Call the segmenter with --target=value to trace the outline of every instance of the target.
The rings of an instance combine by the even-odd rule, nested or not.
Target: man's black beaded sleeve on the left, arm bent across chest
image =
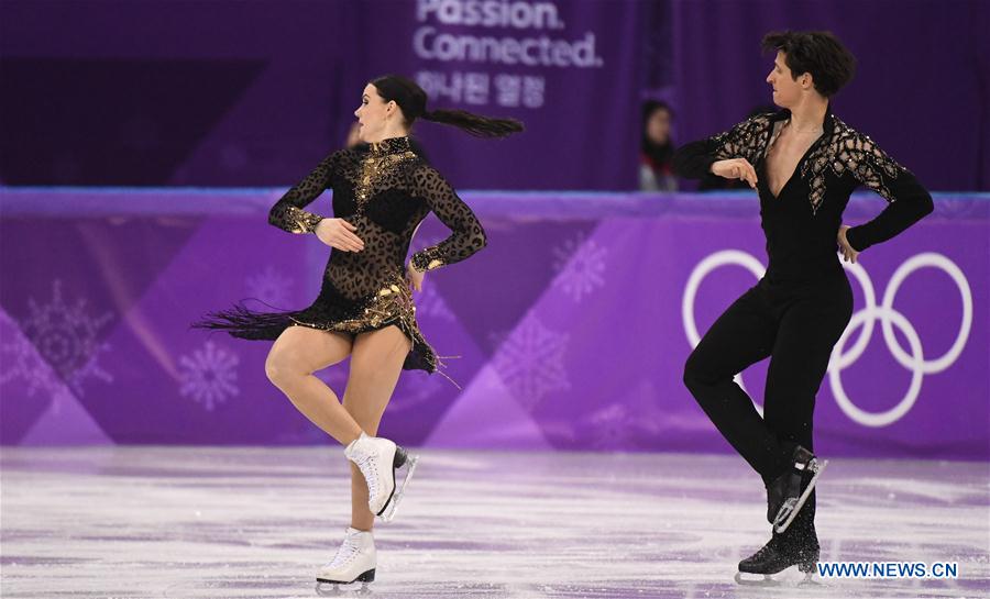
[[[674,153],[674,171],[681,177],[700,179],[718,160],[746,158],[749,164],[756,164],[770,137],[770,117],[758,114],[729,131],[683,145]]]

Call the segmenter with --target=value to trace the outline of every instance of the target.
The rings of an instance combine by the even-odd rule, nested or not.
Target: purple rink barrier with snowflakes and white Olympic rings
[[[2,443],[312,444],[267,342],[188,329],[242,298],[316,296],[328,251],[266,224],[282,190],[2,188]],[[766,264],[749,193],[466,192],[488,235],[418,296],[440,376],[405,373],[382,432],[435,447],[730,451],[681,382]],[[846,221],[884,203],[857,196]],[[328,198],[311,207],[329,211]],[[430,219],[414,246],[446,234]],[[936,196],[849,270],[818,395],[829,456],[990,458],[990,197]],[[743,376],[762,395],[766,362]],[[320,374],[342,390],[346,367]]]

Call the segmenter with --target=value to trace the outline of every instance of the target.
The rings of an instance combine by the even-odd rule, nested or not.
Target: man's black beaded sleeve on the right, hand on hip
[[[935,204],[932,196],[910,170],[867,135],[853,131],[839,140],[836,162],[860,185],[879,193],[888,204],[873,220],[846,232],[857,252],[884,242],[930,214]]]

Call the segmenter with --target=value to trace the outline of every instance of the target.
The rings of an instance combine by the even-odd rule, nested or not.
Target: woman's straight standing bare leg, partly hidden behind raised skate
[[[411,342],[397,326],[362,333],[351,350],[351,374],[343,407],[358,425],[374,436],[403,371]],[[367,509],[367,482],[351,464],[351,526],[370,531],[375,515]]]

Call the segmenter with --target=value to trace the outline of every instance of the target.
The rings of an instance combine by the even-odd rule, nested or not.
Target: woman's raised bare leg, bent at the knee
[[[289,326],[275,341],[265,360],[268,380],[306,418],[343,445],[361,436],[361,425],[314,373],[342,362],[351,346],[351,337],[341,333]]]

